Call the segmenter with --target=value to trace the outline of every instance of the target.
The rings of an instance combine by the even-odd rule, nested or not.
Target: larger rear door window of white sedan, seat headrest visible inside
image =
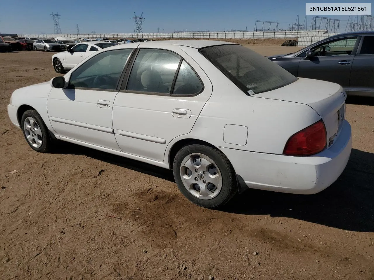
[[[181,57],[168,50],[141,49],[126,90],[170,94]]]

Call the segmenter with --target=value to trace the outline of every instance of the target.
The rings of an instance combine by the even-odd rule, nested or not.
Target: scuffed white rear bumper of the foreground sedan
[[[237,175],[253,189],[309,195],[321,192],[340,176],[352,149],[352,131],[344,121],[338,139],[313,156],[285,156],[221,147]]]

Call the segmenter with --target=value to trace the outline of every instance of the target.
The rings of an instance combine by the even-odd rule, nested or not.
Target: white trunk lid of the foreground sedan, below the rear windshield
[[[347,94],[335,83],[299,78],[285,87],[252,96],[302,103],[313,108],[325,123],[327,148],[338,137],[345,118]]]

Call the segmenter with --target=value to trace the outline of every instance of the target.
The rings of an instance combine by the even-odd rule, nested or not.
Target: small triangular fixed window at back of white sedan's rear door
[[[173,94],[197,94],[203,89],[203,85],[191,66],[183,60],[178,72]]]

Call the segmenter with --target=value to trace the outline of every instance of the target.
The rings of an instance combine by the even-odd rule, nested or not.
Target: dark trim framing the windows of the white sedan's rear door
[[[126,90],[127,85],[129,83],[130,73],[132,71],[132,68],[134,67],[135,60],[136,60],[136,58],[137,58],[138,53],[140,52],[140,50],[166,50],[168,52],[175,53],[177,56],[180,57],[178,68],[175,71],[174,79],[173,79],[173,82],[172,82],[172,85],[171,85],[171,88],[170,88],[170,93],[160,93],[160,92],[141,91],[141,90]],[[174,90],[174,87],[175,87],[175,82],[177,81],[179,69],[180,69],[181,64],[182,64],[183,61],[185,61],[188,64],[188,66],[190,66],[190,68],[195,73],[196,77],[199,79],[199,81],[200,81],[200,83],[202,85],[201,90],[198,93],[193,93],[193,94],[173,94],[173,90]],[[181,56],[179,53],[174,52],[173,50],[163,49],[163,48],[147,48],[147,47],[139,48],[139,47],[137,47],[137,50],[136,50],[136,52],[134,52],[134,56],[132,57],[132,61],[129,63],[129,67],[126,70],[125,77],[123,79],[123,82],[121,84],[119,92],[123,92],[123,93],[135,93],[135,94],[147,94],[147,95],[159,95],[159,96],[193,97],[193,96],[197,96],[200,93],[202,93],[204,91],[204,89],[205,89],[205,85],[204,85],[203,81],[201,80],[199,74],[197,74],[196,70],[191,66],[191,64],[188,63],[188,61],[183,56]]]

